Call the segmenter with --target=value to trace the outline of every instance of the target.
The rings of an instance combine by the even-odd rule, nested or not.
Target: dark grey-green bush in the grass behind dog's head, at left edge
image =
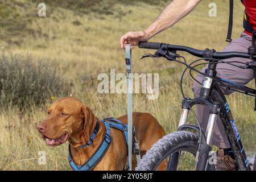
[[[47,62],[33,63],[30,56],[0,56],[0,105],[20,108],[44,104],[51,97],[67,96],[67,82]]]

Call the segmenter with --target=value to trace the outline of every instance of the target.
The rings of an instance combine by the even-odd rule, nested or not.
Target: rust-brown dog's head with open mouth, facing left
[[[64,97],[53,103],[48,117],[36,128],[49,146],[59,146],[69,138],[88,141],[90,130],[93,129],[90,125],[95,119],[92,111],[80,100]]]

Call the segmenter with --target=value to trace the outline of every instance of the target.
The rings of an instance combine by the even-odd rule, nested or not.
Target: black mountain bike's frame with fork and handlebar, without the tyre
[[[241,142],[240,135],[237,130],[236,123],[232,116],[230,107],[224,94],[220,90],[220,85],[218,83],[225,83],[224,86],[228,86],[226,88],[232,88],[235,91],[242,93],[249,94],[251,96],[256,95],[255,89],[247,88],[245,85],[238,84],[236,82],[232,82],[230,80],[226,80],[224,78],[218,78],[216,76],[216,61],[229,59],[232,57],[243,57],[250,59],[252,61],[247,62],[245,67],[240,67],[243,69],[253,69],[254,71],[254,79],[256,80],[256,32],[253,33],[252,36],[252,44],[248,48],[248,52],[216,52],[214,49],[205,49],[199,50],[187,46],[176,46],[172,44],[166,43],[157,43],[157,42],[141,42],[138,44],[139,48],[146,48],[146,49],[157,49],[158,51],[155,52],[154,55],[147,54],[141,56],[143,57],[165,57],[167,60],[170,61],[177,61],[182,63],[181,61],[176,60],[176,57],[182,57],[176,53],[176,51],[185,51],[190,53],[193,56],[203,57],[205,60],[209,60],[211,64],[208,64],[208,69],[205,70],[203,82],[201,84],[200,96],[199,98],[194,98],[191,100],[190,98],[184,98],[183,105],[182,105],[182,113],[179,122],[179,129],[178,130],[185,130],[185,129],[193,129],[199,133],[200,142],[199,143],[199,150],[196,154],[196,169],[197,170],[205,170],[208,167],[208,160],[209,160],[209,151],[211,150],[210,144],[212,142],[214,128],[216,125],[218,115],[221,117],[221,121],[224,125],[225,133],[228,137],[230,146],[233,150],[234,156],[238,163],[238,169],[240,170],[250,170],[249,160],[245,154],[245,150],[243,149],[243,145]],[[184,57],[183,57],[184,58]],[[198,60],[196,60],[198,61]],[[192,62],[193,64],[195,62]],[[222,62],[224,63],[224,62]],[[228,64],[228,62],[225,62]],[[186,69],[193,69],[191,64],[182,63],[187,66]],[[230,64],[232,65],[232,64]],[[234,65],[236,66],[236,65]],[[237,66],[238,67],[238,66]],[[231,87],[229,86],[231,85]],[[215,96],[212,96],[212,93]],[[217,97],[216,97],[217,95]],[[184,94],[183,94],[184,96]],[[203,104],[209,106],[209,120],[207,125],[207,131],[204,134],[203,129],[199,128],[196,125],[187,125],[187,119],[189,110],[191,107],[196,104]],[[256,110],[256,97],[255,97],[255,109]],[[206,136],[205,136],[206,135]],[[208,156],[208,157],[207,157]],[[176,169],[176,164],[178,162],[179,153],[175,152],[174,154],[170,155],[168,169]],[[172,162],[174,161],[174,162]]]

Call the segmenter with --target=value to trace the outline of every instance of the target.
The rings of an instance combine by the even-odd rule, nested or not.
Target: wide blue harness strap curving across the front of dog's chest
[[[75,171],[90,171],[92,170],[103,158],[105,152],[108,150],[109,145],[111,143],[111,137],[110,137],[110,125],[108,122],[104,122],[106,126],[106,134],[104,140],[102,140],[100,147],[97,148],[96,152],[88,159],[82,166],[77,165],[71,155],[70,151],[70,145],[68,146],[69,154],[68,154],[68,160],[70,166]]]

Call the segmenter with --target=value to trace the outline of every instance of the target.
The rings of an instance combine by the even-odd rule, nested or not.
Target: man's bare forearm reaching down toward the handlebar
[[[155,21],[145,30],[149,37],[166,30],[189,14],[201,0],[174,0],[168,5]]]

